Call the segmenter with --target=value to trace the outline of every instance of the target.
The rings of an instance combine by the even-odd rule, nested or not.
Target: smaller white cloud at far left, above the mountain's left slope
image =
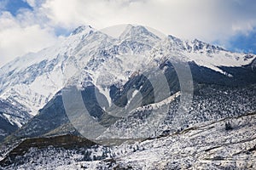
[[[26,16],[26,21],[20,21],[20,17],[15,18],[9,12],[1,14],[0,66],[17,56],[48,47],[56,41],[53,31],[38,24],[30,24],[32,19],[29,15]]]

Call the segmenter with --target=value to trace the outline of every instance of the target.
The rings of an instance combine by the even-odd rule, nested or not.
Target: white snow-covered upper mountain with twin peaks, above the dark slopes
[[[119,38],[90,26],[80,26],[55,46],[26,54],[4,65],[0,75],[0,97],[13,105],[24,105],[34,116],[72,76],[67,68],[75,72],[85,68],[84,74],[92,79],[91,82],[124,84],[132,73],[142,70],[143,65],[162,60],[173,51],[183,54],[186,61],[195,61],[197,65],[222,73],[225,71],[219,66],[248,65],[255,59],[253,54],[231,53],[198,40],[183,41],[172,36],[160,38],[143,26],[129,25]],[[131,58],[131,55],[139,57]],[[115,75],[102,77],[100,74],[110,70]],[[101,92],[109,99],[106,90],[101,89]]]

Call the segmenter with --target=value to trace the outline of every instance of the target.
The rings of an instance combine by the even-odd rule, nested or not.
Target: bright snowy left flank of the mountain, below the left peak
[[[54,47],[26,54],[4,65],[0,75],[1,98],[25,105],[30,114],[36,115],[62,87],[65,60],[73,54],[80,39],[93,31],[89,26],[80,29],[83,33],[74,31]]]

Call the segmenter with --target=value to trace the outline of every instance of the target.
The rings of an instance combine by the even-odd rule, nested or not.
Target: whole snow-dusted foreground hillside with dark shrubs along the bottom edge
[[[5,169],[255,169],[255,125],[253,113],[134,144],[31,149]]]

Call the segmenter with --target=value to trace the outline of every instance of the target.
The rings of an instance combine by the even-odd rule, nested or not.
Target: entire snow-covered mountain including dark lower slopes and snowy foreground
[[[199,40],[164,37],[149,30],[128,25],[116,37],[80,26],[55,46],[4,65],[0,98],[8,107],[0,111],[0,121],[8,121],[15,129],[23,126],[5,139],[0,166],[28,168],[26,162],[48,168],[53,159],[56,164],[50,169],[207,168],[216,167],[219,161],[224,162],[223,167],[232,167],[242,156],[240,167],[255,167],[250,161],[255,152],[255,113],[247,113],[256,111],[256,55],[232,53]],[[189,66],[194,88],[186,86],[190,80],[177,72],[183,71],[183,63]],[[180,102],[184,91],[194,93],[193,100],[185,95],[191,99],[189,104]],[[73,120],[77,124],[85,126],[83,115],[89,114],[104,127],[100,133],[90,128],[96,135],[94,142],[115,146],[89,142],[90,147],[83,148],[90,138],[78,137],[81,131],[73,127],[67,103],[73,106],[70,111],[78,114]],[[15,115],[7,114],[10,112]],[[233,141],[237,134],[241,140]],[[133,138],[136,144],[116,146],[127,139],[134,142]],[[228,141],[231,143],[225,143]],[[60,154],[49,159],[44,156],[55,152]],[[42,159],[35,158],[41,155]],[[145,155],[151,159],[143,159]]]

